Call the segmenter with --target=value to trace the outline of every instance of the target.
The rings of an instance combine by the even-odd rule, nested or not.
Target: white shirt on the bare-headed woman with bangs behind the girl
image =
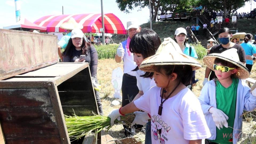
[[[143,91],[143,93],[148,91],[151,87],[156,86],[154,78],[151,79],[151,78],[141,77],[141,75],[145,73],[146,72],[142,70],[136,71],[137,87],[140,91]]]

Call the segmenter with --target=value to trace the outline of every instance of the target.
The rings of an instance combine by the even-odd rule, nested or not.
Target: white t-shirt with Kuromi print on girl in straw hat
[[[152,144],[187,144],[189,140],[211,136],[200,102],[192,91],[185,88],[167,99],[163,103],[162,115],[158,115],[160,91],[160,87],[154,86],[134,101],[138,109],[151,115]]]

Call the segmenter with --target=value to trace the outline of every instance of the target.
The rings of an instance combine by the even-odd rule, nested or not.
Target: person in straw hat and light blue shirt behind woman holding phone
[[[74,18],[70,18],[69,21],[61,24],[60,28],[67,30],[67,34],[64,35],[58,42],[58,55],[62,58],[61,49],[65,49],[69,39],[71,38],[70,34],[73,29],[83,29],[83,25],[77,23]]]

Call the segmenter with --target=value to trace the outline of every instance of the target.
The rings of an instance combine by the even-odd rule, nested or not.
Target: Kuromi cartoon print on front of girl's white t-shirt
[[[154,139],[161,144],[165,144],[165,142],[168,141],[167,134],[171,127],[169,127],[162,118],[159,118],[159,115],[151,115],[151,122],[153,122],[151,127]]]

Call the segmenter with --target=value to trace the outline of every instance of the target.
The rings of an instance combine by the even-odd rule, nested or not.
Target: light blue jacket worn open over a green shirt
[[[235,110],[235,120],[234,120],[234,129],[233,129],[233,144],[241,139],[242,135],[242,114],[243,110],[251,111],[256,108],[256,97],[251,95],[250,87],[246,85],[244,81],[239,79],[237,86],[237,101],[236,101],[236,110]],[[199,101],[202,106],[203,113],[205,115],[206,123],[210,129],[211,137],[210,140],[215,140],[216,138],[216,126],[213,121],[209,109],[211,106],[217,108],[216,106],[216,86],[213,80],[207,82],[201,90],[201,95]],[[238,137],[239,135],[239,137]]]

